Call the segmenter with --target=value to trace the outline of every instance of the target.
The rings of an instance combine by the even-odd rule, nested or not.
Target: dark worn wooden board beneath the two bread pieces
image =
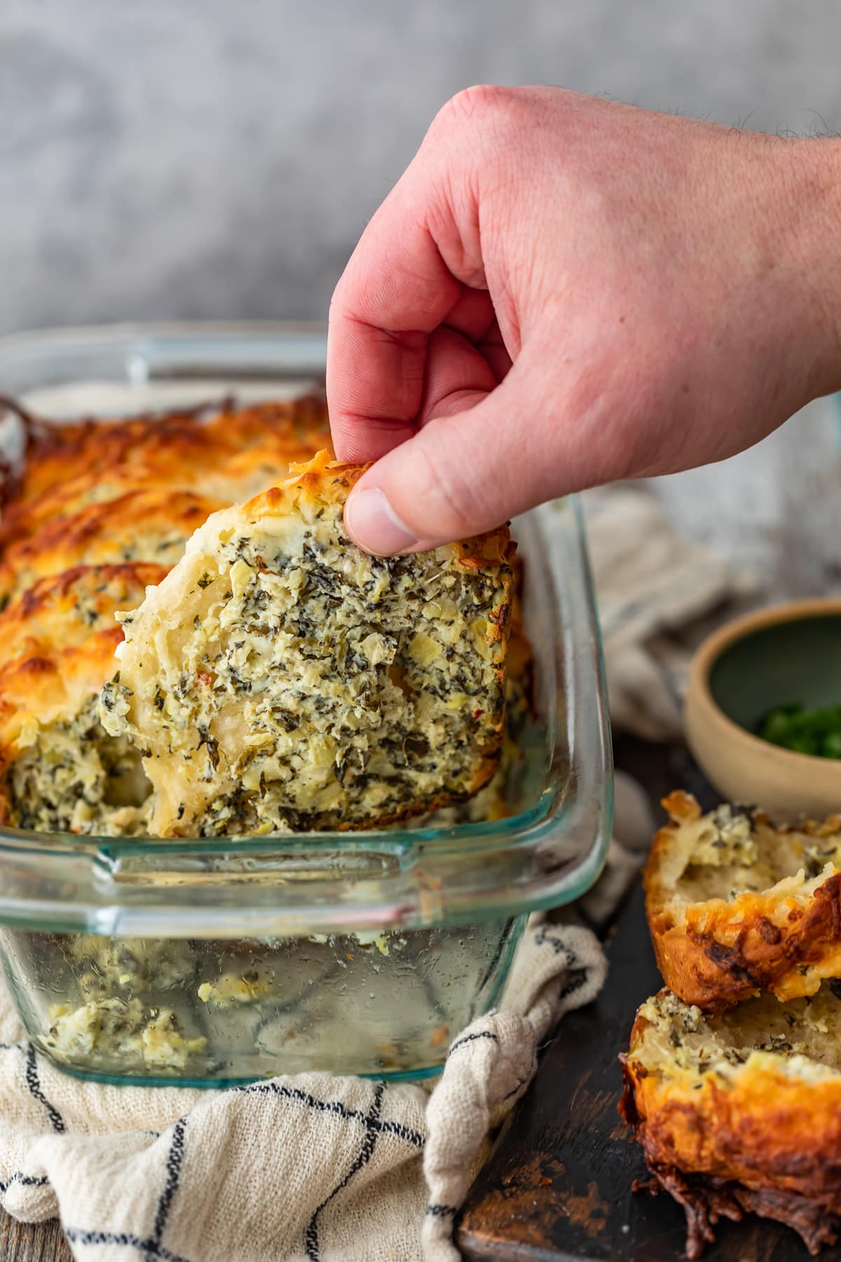
[[[627,742],[618,762],[653,796],[691,789],[715,795],[682,750]],[[656,760],[656,766],[646,766]],[[571,1012],[543,1051],[535,1080],[474,1184],[458,1228],[469,1262],[676,1262],[685,1257],[683,1212],[670,1196],[632,1193],[642,1152],[618,1114],[618,1055],[637,1006],[662,986],[638,886],[606,940],[610,972],[601,994]],[[721,1223],[705,1262],[806,1262],[799,1237],[767,1219]],[[822,1262],[841,1262],[841,1247]]]

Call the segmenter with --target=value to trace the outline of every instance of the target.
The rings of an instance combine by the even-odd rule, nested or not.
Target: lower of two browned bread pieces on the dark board
[[[793,1227],[817,1252],[841,1223],[841,986],[705,1016],[670,991],[637,1013],[622,1112],[654,1189],[683,1205],[690,1258],[719,1218]]]

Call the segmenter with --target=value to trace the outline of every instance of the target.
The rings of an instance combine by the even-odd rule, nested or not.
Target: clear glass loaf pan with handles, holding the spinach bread
[[[324,347],[289,324],[47,331],[0,339],[0,391],[53,416],[276,398],[323,375]],[[71,1073],[166,1085],[440,1069],[499,1001],[528,912],[584,893],[610,830],[581,515],[567,500],[513,530],[537,719],[511,817],[221,840],[0,829],[0,954],[37,1047]]]

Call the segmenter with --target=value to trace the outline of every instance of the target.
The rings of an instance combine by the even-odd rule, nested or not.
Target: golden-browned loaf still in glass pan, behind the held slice
[[[140,604],[218,507],[277,482],[323,445],[305,396],[224,400],[130,420],[54,423],[11,400],[20,468],[0,466],[0,819],[44,833],[149,833],[140,750],[108,736],[100,693]]]

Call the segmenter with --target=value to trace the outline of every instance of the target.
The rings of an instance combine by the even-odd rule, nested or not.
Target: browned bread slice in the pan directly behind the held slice
[[[42,833],[148,833],[140,752],[102,729],[98,698],[122,640],[117,610],[158,565],[81,567],[0,613],[0,819]]]

